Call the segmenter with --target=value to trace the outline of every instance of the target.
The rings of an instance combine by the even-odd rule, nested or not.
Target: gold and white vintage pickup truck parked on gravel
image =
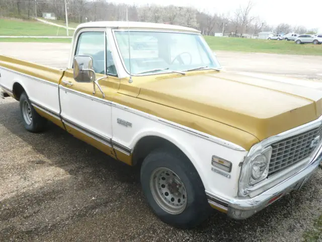
[[[193,227],[211,207],[252,216],[321,160],[322,91],[220,69],[195,29],[92,22],[77,27],[65,70],[0,55],[0,87],[20,101],[28,131],[50,120],[139,165],[153,212]]]

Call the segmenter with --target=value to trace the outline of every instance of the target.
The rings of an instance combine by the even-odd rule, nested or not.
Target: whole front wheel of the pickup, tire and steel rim
[[[152,151],[141,166],[141,186],[152,211],[172,226],[195,227],[211,214],[197,170],[179,151]]]

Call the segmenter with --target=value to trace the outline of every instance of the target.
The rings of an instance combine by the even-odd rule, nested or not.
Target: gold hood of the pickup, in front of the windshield
[[[319,85],[274,75],[203,73],[143,83],[137,97],[232,126],[261,141],[318,118]]]

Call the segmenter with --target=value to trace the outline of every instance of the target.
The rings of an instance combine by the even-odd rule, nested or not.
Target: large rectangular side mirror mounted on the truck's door
[[[94,82],[93,58],[89,55],[75,55],[73,59],[73,73],[76,82]]]

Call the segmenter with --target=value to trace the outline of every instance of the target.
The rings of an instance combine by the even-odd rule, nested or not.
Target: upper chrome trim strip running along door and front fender
[[[246,151],[243,147],[241,147],[239,145],[236,145],[236,144],[234,144],[232,142],[229,142],[229,141],[226,141],[226,140],[223,140],[223,139],[208,135],[206,133],[203,133],[203,132],[188,128],[186,126],[183,126],[183,125],[180,125],[180,124],[177,124],[177,123],[174,123],[174,122],[171,122],[171,121],[169,121],[167,119],[163,119],[163,118],[151,115],[149,113],[142,112],[142,111],[139,111],[137,109],[121,105],[121,104],[116,103],[116,102],[108,101],[108,100],[105,100],[105,99],[102,99],[102,98],[99,98],[99,97],[95,97],[95,96],[91,96],[89,94],[85,94],[85,93],[82,93],[82,92],[79,92],[79,91],[75,91],[73,89],[63,87],[61,85],[59,85],[59,88],[65,90],[65,91],[68,91],[68,92],[75,93],[75,94],[77,94],[79,96],[90,98],[91,100],[97,100],[99,102],[102,102],[102,103],[105,103],[105,104],[108,104],[108,105],[112,105],[112,106],[120,108],[120,109],[124,109],[126,111],[132,112],[132,113],[140,115],[142,117],[146,117],[146,118],[148,118],[150,120],[153,120],[155,122],[165,124],[167,126],[173,127],[175,129],[178,129],[178,130],[181,130],[181,131],[184,131],[184,132],[188,132],[189,134],[201,137],[203,139],[209,140],[209,141],[214,142],[216,144],[228,147],[230,149],[239,150],[239,151]]]

